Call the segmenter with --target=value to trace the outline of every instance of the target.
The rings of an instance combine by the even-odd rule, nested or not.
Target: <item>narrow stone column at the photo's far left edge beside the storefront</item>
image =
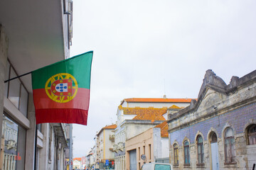
[[[0,24],[0,137],[2,136],[3,113],[4,113],[4,75],[6,71],[7,52],[9,40],[4,32],[4,27]],[[4,135],[4,134],[3,134]],[[0,138],[1,139],[1,138]],[[0,146],[1,146],[0,140]],[[3,148],[4,149],[4,148]],[[4,151],[4,150],[3,150]],[[0,155],[0,170],[3,167],[3,154]]]

